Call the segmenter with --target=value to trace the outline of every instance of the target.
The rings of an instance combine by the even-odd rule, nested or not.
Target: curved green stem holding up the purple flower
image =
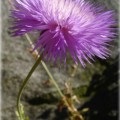
[[[20,116],[21,116],[21,112],[20,112],[20,98],[21,98],[21,95],[23,93],[24,88],[27,85],[27,82],[29,81],[29,78],[31,77],[32,73],[35,71],[35,69],[37,68],[37,66],[39,65],[41,60],[42,60],[42,55],[37,59],[37,61],[35,62],[35,64],[31,68],[30,72],[28,73],[27,77],[23,81],[22,86],[21,86],[21,88],[19,90],[19,93],[18,93],[18,96],[17,96],[17,110],[18,110],[18,114]]]

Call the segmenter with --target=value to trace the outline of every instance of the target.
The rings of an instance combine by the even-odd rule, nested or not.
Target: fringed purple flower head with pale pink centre
[[[65,62],[69,53],[75,63],[85,66],[95,56],[109,56],[115,34],[112,11],[84,0],[15,0],[14,7],[13,35],[40,31],[35,49],[45,59]]]

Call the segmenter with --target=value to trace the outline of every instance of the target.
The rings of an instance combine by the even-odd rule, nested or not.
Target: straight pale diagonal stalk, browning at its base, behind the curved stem
[[[28,34],[25,34],[26,39],[28,40],[29,44],[31,45],[32,49],[34,48],[34,45],[32,43],[32,40],[30,39]],[[35,50],[35,57],[39,57],[38,51]],[[72,98],[67,98],[67,96],[65,96],[62,91],[60,90],[58,84],[56,83],[53,75],[51,74],[50,70],[48,69],[47,65],[45,64],[44,61],[41,60],[41,64],[44,67],[45,71],[47,72],[51,83],[55,86],[55,88],[57,89],[59,95],[61,96],[63,103],[65,104],[65,106],[68,108],[68,110],[70,111],[72,118],[71,120],[84,120],[82,115],[77,111],[77,109],[75,108],[73,102],[72,102]]]

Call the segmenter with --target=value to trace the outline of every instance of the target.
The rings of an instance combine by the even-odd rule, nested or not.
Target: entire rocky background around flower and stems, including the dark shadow
[[[113,9],[118,16],[118,0],[91,0]],[[16,97],[23,79],[33,66],[35,59],[29,52],[30,45],[25,36],[11,37],[10,4],[2,0],[2,120],[17,120]],[[33,36],[34,34],[34,36]],[[37,38],[33,33],[32,40]],[[71,83],[73,93],[80,100],[79,111],[85,120],[118,119],[118,37],[112,43],[112,56],[105,60],[96,58],[93,65],[83,69],[71,60],[65,67],[47,63],[52,75],[64,91],[65,82]],[[66,109],[59,111],[60,97],[49,82],[42,65],[30,78],[21,99],[30,120],[69,120]]]

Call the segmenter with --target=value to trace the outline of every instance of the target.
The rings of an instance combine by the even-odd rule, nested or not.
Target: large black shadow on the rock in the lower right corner
[[[118,58],[106,65],[102,75],[93,76],[86,96],[90,99],[79,108],[89,108],[85,120],[118,119]]]

